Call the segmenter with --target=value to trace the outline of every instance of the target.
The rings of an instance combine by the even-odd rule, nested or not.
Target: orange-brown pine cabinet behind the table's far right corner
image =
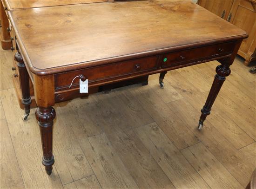
[[[246,31],[249,38],[238,54],[245,65],[256,59],[256,0],[198,0],[198,4]]]

